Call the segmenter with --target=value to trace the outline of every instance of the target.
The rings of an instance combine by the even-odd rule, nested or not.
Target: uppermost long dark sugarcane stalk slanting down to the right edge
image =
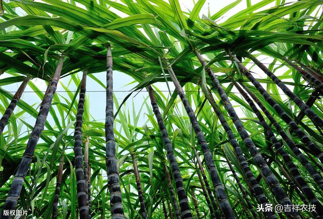
[[[283,92],[291,98],[296,105],[299,106],[302,112],[313,122],[314,125],[323,129],[323,120],[321,120],[312,109],[306,105],[303,100],[301,100],[296,94],[294,94],[276,75],[274,75],[267,67],[265,67],[257,58],[249,55],[249,58],[266,74],[268,75],[282,90]]]

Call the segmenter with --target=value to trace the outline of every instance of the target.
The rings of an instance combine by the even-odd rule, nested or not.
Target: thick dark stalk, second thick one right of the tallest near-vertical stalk
[[[190,103],[188,102],[188,100],[185,96],[185,93],[183,92],[182,86],[178,82],[176,75],[175,75],[170,63],[168,61],[166,61],[166,64],[167,64],[168,72],[169,72],[169,74],[172,78],[172,81],[175,85],[175,88],[177,90],[177,93],[180,96],[180,98],[184,104],[185,110],[190,118],[192,127],[194,129],[195,135],[198,140],[198,143],[201,146],[201,149],[203,151],[203,155],[204,155],[205,163],[206,163],[206,166],[208,169],[208,173],[210,175],[214,189],[216,190],[216,196],[217,196],[217,200],[218,200],[220,209],[222,210],[222,212],[224,213],[226,218],[230,218],[230,219],[235,218],[234,212],[230,206],[226,192],[224,190],[224,186],[222,185],[220,177],[218,175],[218,170],[216,168],[216,165],[214,165],[212,153],[210,151],[210,148],[207,145],[207,142],[204,139],[204,135],[202,133],[202,130],[201,130],[199,124],[197,123],[196,117],[194,115],[194,111],[193,111],[192,107],[190,106]]]

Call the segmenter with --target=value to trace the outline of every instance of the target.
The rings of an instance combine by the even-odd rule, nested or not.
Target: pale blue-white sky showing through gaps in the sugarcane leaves
[[[206,1],[206,3],[204,4],[204,6],[201,9],[201,12],[199,14],[199,16],[201,17],[202,15],[207,15],[208,10],[210,10],[210,14],[214,14],[216,12],[218,12],[220,9],[224,8],[225,6],[233,3],[233,0],[227,0],[227,1],[215,1],[215,0],[208,0]],[[252,5],[258,3],[260,1],[258,0],[251,0]],[[270,2],[270,1],[268,1]],[[275,6],[275,1],[271,1],[272,3],[270,4],[270,6]],[[288,1],[286,1],[288,2]],[[289,1],[291,2],[291,1]],[[191,11],[194,7],[194,2],[191,0],[180,0],[180,4],[181,4],[181,8],[184,11]],[[246,8],[246,1],[243,0],[241,1],[241,3],[236,6],[234,9],[230,10],[229,12],[226,13],[226,16],[221,18],[221,22],[225,21],[226,19],[228,19],[230,16],[238,13],[240,10],[243,10]],[[268,8],[268,7],[266,7]],[[262,8],[261,10],[263,10],[264,8]],[[115,13],[118,13],[120,16],[124,16],[122,15],[122,13],[118,12],[117,10],[114,10]],[[266,60],[267,63],[270,63],[272,60]],[[277,72],[277,75],[279,76],[280,74],[282,74],[284,72],[284,69],[286,70],[286,68],[282,68],[279,70],[279,72]],[[253,69],[253,71],[257,72],[256,78],[266,78],[266,75],[264,75],[260,69],[258,69],[257,67],[255,67]],[[100,79],[104,84],[105,84],[105,72],[100,72],[100,73],[96,73],[95,77],[97,77],[98,79]],[[81,73],[78,74],[79,77],[81,77]],[[3,74],[0,76],[0,79],[9,77],[8,74]],[[71,78],[70,77],[65,77],[63,79],[60,80],[60,83],[58,85],[57,88],[57,93],[59,93],[62,96],[67,96],[67,93],[64,92],[64,89],[61,85],[61,83],[63,83],[64,85],[67,85],[69,83],[69,80]],[[132,83],[130,85],[127,85],[131,82],[133,82],[134,80],[122,73],[122,72],[118,72],[118,71],[114,71],[114,91],[115,91],[115,95],[118,99],[118,102],[121,103],[122,100],[129,94],[129,90],[131,90],[133,87],[135,87],[135,85],[137,83]],[[33,79],[32,80],[33,83],[36,84],[36,86],[41,90],[41,91],[45,91],[46,90],[46,84],[44,81],[42,81],[41,79]],[[169,83],[171,90],[174,90],[174,86],[172,85],[172,83]],[[15,83],[15,84],[11,84],[11,85],[7,85],[7,86],[3,86],[4,89],[8,90],[8,91],[13,91],[13,93],[17,90],[17,88],[19,87],[20,83]],[[167,96],[167,94],[169,93],[167,90],[167,85],[166,83],[157,83],[155,84],[157,87],[159,87],[160,90],[165,90],[165,95]],[[76,90],[75,85],[69,86],[70,90]],[[40,99],[38,98],[38,96],[36,96],[35,93],[32,92],[32,89],[27,86],[26,91],[23,96],[22,99],[24,101],[26,101],[29,104],[35,104],[38,105],[40,103]],[[233,92],[237,92],[236,90],[233,90]],[[135,93],[136,94],[136,93]],[[91,78],[87,77],[87,95],[89,96],[89,101],[90,101],[90,114],[92,115],[92,117],[96,120],[96,121],[100,121],[103,122],[105,119],[105,90],[103,87],[101,87],[100,85],[98,85],[95,81],[93,81]],[[139,92],[137,95],[132,95],[131,98],[128,99],[127,104],[128,106],[130,106],[130,112],[132,112],[131,107],[132,107],[132,101],[135,103],[135,108],[136,108],[136,112],[139,111],[139,108],[141,106],[141,104],[143,103],[144,99],[147,98],[147,92],[145,92],[144,90],[142,92]],[[15,112],[20,111],[19,107],[16,107]],[[115,109],[116,111],[116,109]],[[142,113],[141,113],[141,119],[139,121],[138,126],[142,126],[147,117],[145,116],[146,113],[146,109],[144,108]],[[239,116],[243,116],[243,113],[241,111],[241,109],[237,108],[237,113]],[[26,115],[27,117],[25,118],[26,122],[33,124],[35,122],[35,119],[33,117],[30,117],[29,115]],[[50,115],[48,116],[48,121],[50,123],[52,123],[52,118],[50,117]]]

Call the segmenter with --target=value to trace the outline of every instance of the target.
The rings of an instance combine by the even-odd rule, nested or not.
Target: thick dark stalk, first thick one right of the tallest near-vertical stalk
[[[182,217],[184,219],[193,218],[192,213],[190,211],[188,198],[187,198],[187,195],[186,195],[186,192],[185,192],[185,189],[184,189],[184,184],[183,184],[183,179],[182,179],[182,176],[181,176],[181,172],[179,170],[178,162],[176,160],[176,157],[175,157],[175,154],[174,154],[174,151],[173,151],[173,145],[172,145],[172,142],[171,142],[171,140],[170,140],[170,138],[168,136],[168,132],[167,132],[166,126],[164,124],[163,117],[161,116],[161,114],[159,112],[159,108],[158,108],[158,105],[156,103],[155,96],[153,94],[153,89],[149,85],[147,87],[147,90],[148,90],[148,93],[149,93],[149,98],[150,98],[150,101],[151,101],[152,110],[153,110],[153,112],[155,114],[157,124],[158,124],[158,127],[159,127],[160,132],[161,132],[161,137],[162,137],[163,143],[165,144],[165,147],[166,147],[167,158],[168,158],[168,160],[170,162],[173,179],[175,181],[176,192],[177,192],[177,196],[178,196],[179,203],[180,203]]]

